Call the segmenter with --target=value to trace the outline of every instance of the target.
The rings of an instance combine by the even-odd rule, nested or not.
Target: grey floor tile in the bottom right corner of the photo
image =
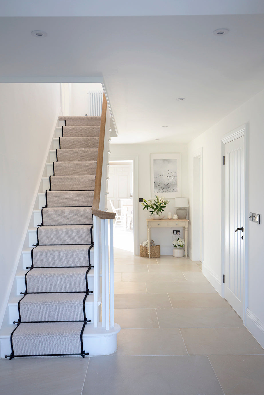
[[[264,355],[210,355],[215,374],[228,395],[263,395]]]

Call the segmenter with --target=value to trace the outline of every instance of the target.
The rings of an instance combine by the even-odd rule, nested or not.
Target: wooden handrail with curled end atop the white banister
[[[97,166],[96,166],[96,175],[95,175],[95,192],[93,196],[93,205],[92,205],[92,213],[93,215],[101,218],[101,219],[113,219],[116,214],[108,211],[99,210],[100,203],[100,195],[101,195],[101,181],[102,181],[102,169],[103,169],[103,156],[104,156],[104,131],[105,131],[105,123],[106,123],[106,108],[107,101],[105,95],[103,96],[103,106],[102,106],[102,115],[101,115],[101,126],[100,126],[100,135],[99,135],[99,147],[97,154]]]

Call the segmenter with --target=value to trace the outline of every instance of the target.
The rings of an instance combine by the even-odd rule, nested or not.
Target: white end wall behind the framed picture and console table
[[[188,197],[187,181],[187,144],[111,144],[110,160],[122,158],[127,155],[138,156],[138,188],[139,198],[150,199],[150,154],[160,152],[180,152],[181,154],[181,193],[182,196]],[[174,199],[167,199],[170,203],[164,210],[167,213],[175,213]],[[150,215],[149,211],[144,210],[141,203],[139,205],[139,243],[148,239],[146,218]],[[188,218],[188,217],[187,217]],[[177,229],[177,228],[173,228]],[[180,229],[180,228],[179,228]],[[182,233],[181,235],[182,236]],[[174,236],[176,238],[176,236]],[[151,229],[151,238],[156,244],[160,245],[161,254],[172,255],[172,235],[171,228]]]

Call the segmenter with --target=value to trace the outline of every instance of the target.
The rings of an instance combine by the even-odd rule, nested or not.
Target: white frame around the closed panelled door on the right
[[[224,145],[239,137],[244,139],[244,301],[243,301],[243,323],[245,325],[246,309],[248,304],[247,279],[248,279],[248,124],[224,134],[221,138],[221,296],[224,297]]]

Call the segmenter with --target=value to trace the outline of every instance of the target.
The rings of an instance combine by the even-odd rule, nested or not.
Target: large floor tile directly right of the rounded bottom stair
[[[113,355],[187,355],[179,329],[121,329]]]

